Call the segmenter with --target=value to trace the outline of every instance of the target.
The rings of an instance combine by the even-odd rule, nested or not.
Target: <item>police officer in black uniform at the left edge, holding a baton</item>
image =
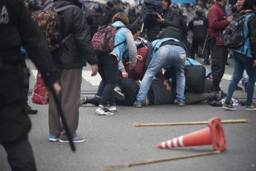
[[[25,113],[23,87],[28,77],[20,74],[23,45],[42,73],[47,86],[60,91],[56,68],[42,33],[22,0],[0,0],[0,143],[12,170],[36,170],[28,132],[31,120]],[[23,77],[21,77],[21,75]]]

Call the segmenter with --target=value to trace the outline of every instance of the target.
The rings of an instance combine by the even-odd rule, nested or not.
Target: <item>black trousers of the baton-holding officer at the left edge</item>
[[[0,72],[0,143],[12,170],[36,170],[28,143],[31,120],[25,113],[23,78],[19,64],[4,64]]]

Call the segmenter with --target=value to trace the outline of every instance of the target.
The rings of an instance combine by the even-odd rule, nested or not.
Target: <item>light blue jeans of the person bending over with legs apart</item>
[[[153,80],[153,77],[161,71],[162,68],[169,65],[173,65],[176,71],[177,77],[177,100],[185,100],[184,90],[185,90],[185,59],[186,53],[185,50],[180,46],[175,45],[164,45],[156,51],[156,54],[151,59],[150,65],[147,68],[146,73],[141,82],[141,88],[138,91],[137,101],[143,101],[147,92],[150,89],[150,83]]]

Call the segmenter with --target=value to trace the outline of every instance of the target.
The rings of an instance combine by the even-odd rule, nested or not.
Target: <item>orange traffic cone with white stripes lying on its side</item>
[[[179,138],[173,138],[172,140],[159,143],[157,147],[165,149],[178,146],[202,146],[210,144],[213,145],[214,151],[223,151],[227,148],[223,124],[221,123],[220,117],[214,117],[208,120],[208,128],[200,129],[196,132],[179,136]]]

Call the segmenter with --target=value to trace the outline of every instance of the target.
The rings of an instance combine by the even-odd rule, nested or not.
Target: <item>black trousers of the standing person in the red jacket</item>
[[[223,45],[216,45],[215,39],[211,40],[211,74],[213,85],[211,91],[220,91],[220,81],[225,73],[225,62],[228,58],[228,49]]]

